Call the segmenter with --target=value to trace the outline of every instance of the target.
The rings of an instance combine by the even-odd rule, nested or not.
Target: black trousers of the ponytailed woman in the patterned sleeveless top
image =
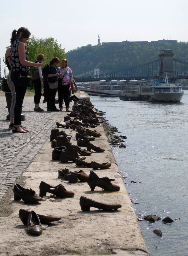
[[[22,112],[22,105],[23,105],[23,99],[26,94],[27,87],[21,87],[18,86],[18,77],[20,75],[20,72],[11,72],[11,80],[14,83],[15,86],[15,92],[16,92],[16,103],[14,107],[14,125],[20,125],[21,124],[21,112]]]

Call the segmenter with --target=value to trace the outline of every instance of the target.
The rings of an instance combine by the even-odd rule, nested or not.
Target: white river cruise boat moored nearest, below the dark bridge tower
[[[181,84],[171,84],[165,80],[143,79],[120,85],[120,99],[146,100],[153,102],[180,102],[184,92]]]

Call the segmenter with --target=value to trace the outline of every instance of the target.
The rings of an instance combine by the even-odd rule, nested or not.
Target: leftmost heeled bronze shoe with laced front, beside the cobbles
[[[14,184],[13,188],[14,192],[14,200],[23,200],[24,202],[28,203],[37,203],[39,201],[42,201],[42,198],[40,196],[37,196],[34,190],[31,188],[23,188],[18,183]]]

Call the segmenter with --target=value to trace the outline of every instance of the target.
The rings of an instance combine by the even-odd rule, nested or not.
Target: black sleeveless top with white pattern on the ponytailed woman
[[[29,73],[29,66],[21,65],[19,60],[18,51],[16,50],[16,45],[18,45],[20,42],[19,38],[16,38],[13,45],[10,48],[10,65],[12,72],[14,71],[23,71]],[[27,52],[26,52],[26,60],[27,59]]]

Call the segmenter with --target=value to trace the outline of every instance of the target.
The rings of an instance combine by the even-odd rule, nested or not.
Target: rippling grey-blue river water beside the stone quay
[[[188,91],[178,103],[98,96],[90,100],[121,132],[117,135],[127,136],[126,148],[112,151],[122,177],[127,177],[130,198],[138,203],[133,204],[136,216],[161,217],[154,223],[139,222],[150,256],[188,255]],[[167,216],[174,222],[164,224]],[[161,229],[162,237],[154,229]]]

